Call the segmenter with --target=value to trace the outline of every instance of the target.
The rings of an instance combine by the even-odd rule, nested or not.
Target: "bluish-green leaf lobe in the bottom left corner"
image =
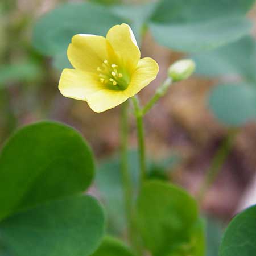
[[[92,197],[71,196],[15,214],[0,228],[16,256],[87,256],[104,235],[104,213]]]

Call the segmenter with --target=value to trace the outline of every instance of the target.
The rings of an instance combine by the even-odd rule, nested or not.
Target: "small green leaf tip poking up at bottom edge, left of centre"
[[[105,237],[100,247],[91,256],[133,256],[133,253],[118,239]]]

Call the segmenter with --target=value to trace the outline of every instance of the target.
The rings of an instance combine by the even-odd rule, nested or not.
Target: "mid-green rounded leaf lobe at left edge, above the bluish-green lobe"
[[[92,151],[77,131],[56,122],[23,127],[0,155],[0,219],[85,191],[93,175]]]

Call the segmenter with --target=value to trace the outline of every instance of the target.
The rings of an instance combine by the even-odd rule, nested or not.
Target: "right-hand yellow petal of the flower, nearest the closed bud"
[[[156,78],[158,71],[159,67],[155,60],[151,58],[139,60],[138,66],[131,77],[131,82],[124,92],[129,97],[134,96]]]

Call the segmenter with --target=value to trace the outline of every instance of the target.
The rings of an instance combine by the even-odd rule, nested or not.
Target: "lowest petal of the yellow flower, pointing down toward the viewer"
[[[103,112],[125,102],[127,98],[123,91],[103,89],[90,94],[87,102],[94,112]]]

